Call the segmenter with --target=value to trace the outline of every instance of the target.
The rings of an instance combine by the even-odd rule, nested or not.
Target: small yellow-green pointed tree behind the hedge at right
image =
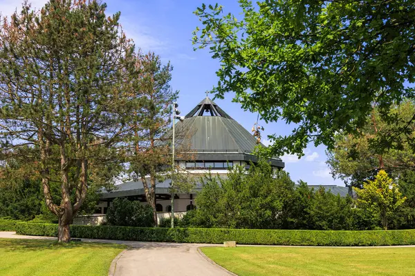
[[[380,215],[385,230],[388,228],[388,219],[392,212],[406,199],[402,197],[398,186],[388,177],[385,170],[380,170],[374,181],[367,180],[362,189],[354,188],[354,190],[358,195],[358,204]]]

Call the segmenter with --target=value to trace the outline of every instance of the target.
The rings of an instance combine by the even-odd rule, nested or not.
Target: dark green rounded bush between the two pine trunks
[[[108,208],[107,221],[113,226],[151,227],[154,225],[153,209],[140,201],[116,198]]]

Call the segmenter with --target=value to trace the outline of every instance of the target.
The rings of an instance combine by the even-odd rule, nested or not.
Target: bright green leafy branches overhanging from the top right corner
[[[271,153],[302,155],[311,141],[333,148],[334,134],[356,133],[378,103],[414,99],[415,3],[407,0],[240,0],[241,15],[205,6],[195,14],[197,48],[221,67],[213,92],[235,92],[243,108],[266,122],[295,123],[286,137],[270,137]],[[415,121],[415,115],[407,124]],[[396,128],[381,144],[413,129]],[[412,140],[411,150],[415,150]]]

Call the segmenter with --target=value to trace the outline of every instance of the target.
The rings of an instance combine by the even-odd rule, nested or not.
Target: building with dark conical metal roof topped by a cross
[[[248,168],[250,162],[257,162],[257,157],[252,155],[258,145],[257,139],[209,97],[197,104],[183,121],[178,121],[176,130],[181,133],[178,137],[188,137],[185,146],[189,155],[192,155],[192,158],[189,155],[178,155],[176,164],[192,174],[204,175],[210,170],[215,175],[217,173],[225,177],[228,166],[241,165]],[[172,134],[167,133],[167,137],[169,135]],[[181,143],[181,139],[178,139],[178,143]],[[275,170],[284,168],[284,162],[277,157],[269,161]],[[169,185],[170,179],[156,184],[156,209],[160,213],[171,210]],[[200,189],[201,183],[196,185],[194,193],[176,195],[174,210],[180,213],[193,208],[194,197]],[[118,185],[116,190],[102,193],[97,213],[107,213],[110,202],[116,197],[146,201],[142,182],[130,181]]]

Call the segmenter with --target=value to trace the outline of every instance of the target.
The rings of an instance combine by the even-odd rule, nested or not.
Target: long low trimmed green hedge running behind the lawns
[[[57,236],[57,224],[16,225],[21,235]],[[118,239],[140,242],[191,242],[286,246],[392,246],[415,244],[415,230],[320,231],[218,228],[138,228],[125,226],[71,226],[71,236],[84,239]]]

